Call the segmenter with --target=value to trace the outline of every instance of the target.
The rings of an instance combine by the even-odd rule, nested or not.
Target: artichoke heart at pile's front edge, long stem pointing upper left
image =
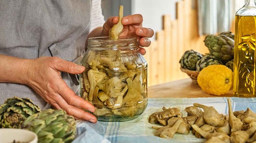
[[[219,132],[213,132],[213,133],[208,133],[200,129],[197,125],[192,125],[192,128],[195,129],[200,135],[202,135],[204,138],[207,140],[213,141],[215,138],[219,138],[220,141],[219,143],[230,143],[230,137],[225,134],[225,133],[219,133]]]

